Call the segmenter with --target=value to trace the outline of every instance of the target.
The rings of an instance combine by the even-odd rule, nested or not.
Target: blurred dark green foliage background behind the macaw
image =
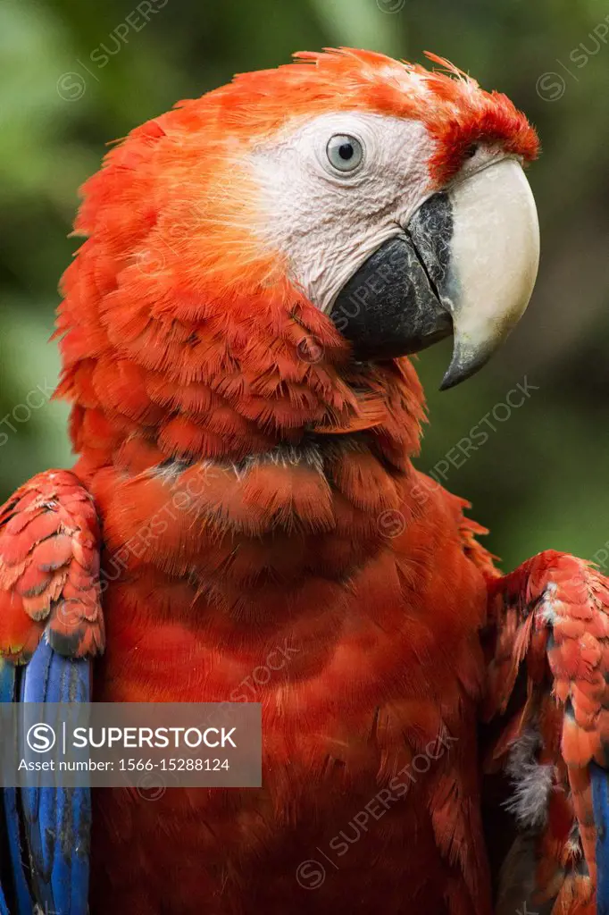
[[[529,179],[542,260],[527,315],[481,374],[438,393],[449,344],[422,354],[431,422],[419,466],[477,425],[488,440],[466,460],[452,452],[461,466],[446,485],[474,503],[490,548],[506,566],[550,546],[592,557],[609,539],[607,35],[606,0],[2,0],[0,496],[71,463],[67,407],[40,389],[59,369],[48,337],[77,246],[77,191],[104,144],[294,50],[421,61],[430,49],[507,92],[539,128]],[[525,375],[538,390],[493,418]]]

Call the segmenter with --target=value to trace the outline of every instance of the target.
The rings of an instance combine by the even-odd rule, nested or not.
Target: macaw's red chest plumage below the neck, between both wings
[[[168,880],[184,912],[201,893],[221,911],[280,912],[290,882],[302,911],[347,892],[370,912],[380,894],[396,912],[405,896],[437,893],[438,912],[484,899],[471,839],[486,586],[461,503],[384,469],[358,436],[105,477],[91,481],[111,646],[95,697],[261,702],[263,786],[100,793],[94,860],[112,867],[93,899],[154,911]],[[146,878],[132,897],[135,843]]]

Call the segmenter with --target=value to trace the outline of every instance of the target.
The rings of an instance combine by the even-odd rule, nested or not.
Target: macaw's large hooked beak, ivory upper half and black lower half
[[[453,387],[480,369],[518,322],[539,259],[529,182],[518,161],[501,159],[426,200],[405,233],[351,277],[331,317],[360,358],[405,355],[452,332],[441,387]]]

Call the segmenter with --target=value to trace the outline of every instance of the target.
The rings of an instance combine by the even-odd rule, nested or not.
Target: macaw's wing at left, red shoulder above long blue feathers
[[[91,497],[67,471],[39,474],[0,509],[3,702],[90,700],[83,656],[103,648],[100,539]],[[90,791],[2,793],[7,855],[0,881],[13,915],[85,915]]]

